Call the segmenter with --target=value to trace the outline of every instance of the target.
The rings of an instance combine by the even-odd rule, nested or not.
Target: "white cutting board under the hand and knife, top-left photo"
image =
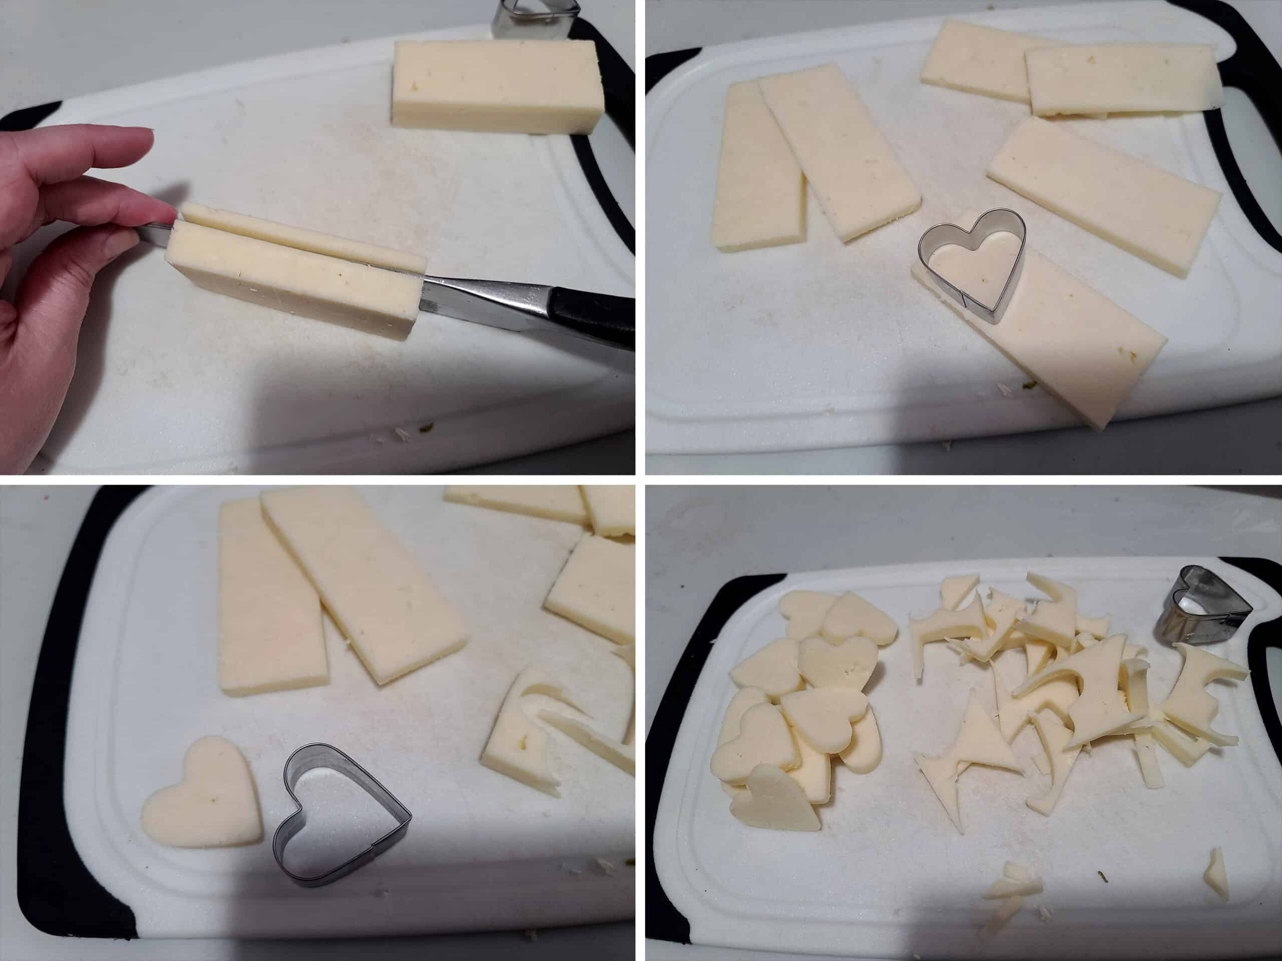
[[[631,295],[632,255],[568,137],[391,126],[396,38],[487,36],[460,28],[235,64],[69,100],[46,124],[155,128],[146,158],[103,176],[174,205],[419,251],[446,277]],[[592,140],[617,155],[609,118]],[[18,249],[10,286],[56,229]],[[406,342],[391,341],[210,293],[141,245],[95,284],[76,379],[36,469],[442,470],[626,428],[632,390],[626,351],[423,313]]]

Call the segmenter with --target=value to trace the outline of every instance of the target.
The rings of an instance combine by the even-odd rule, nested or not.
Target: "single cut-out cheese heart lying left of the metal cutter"
[[[227,738],[204,737],[182,759],[182,780],[142,805],[142,830],[171,847],[229,847],[263,839],[254,775]]]

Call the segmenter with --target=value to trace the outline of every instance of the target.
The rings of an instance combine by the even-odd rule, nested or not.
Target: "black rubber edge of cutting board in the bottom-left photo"
[[[63,807],[67,709],[85,604],[106,536],[145,487],[103,487],[81,523],[49,610],[27,711],[18,787],[18,907],[45,934],[137,938],[133,911],[90,874]]]

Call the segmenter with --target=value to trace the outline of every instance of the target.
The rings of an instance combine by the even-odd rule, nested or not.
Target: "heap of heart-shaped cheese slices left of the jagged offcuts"
[[[787,637],[738,664],[712,771],[731,814],[754,828],[819,830],[836,755],[856,774],[882,756],[877,718],[863,693],[878,647],[899,627],[855,593],[792,591],[779,600]]]

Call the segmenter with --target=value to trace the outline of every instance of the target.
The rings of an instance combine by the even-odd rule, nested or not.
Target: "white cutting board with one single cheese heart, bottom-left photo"
[[[446,504],[438,487],[367,488],[374,513],[463,614],[468,645],[378,688],[327,621],[329,684],[227,697],[217,674],[218,505],[254,492],[145,493],[112,530],[86,606],[64,801],[76,850],[135,912],[138,934],[337,937],[631,917],[635,780],[555,732],[560,798],[477,760],[527,665],[562,678],[605,733],[622,738],[627,728],[633,678],[614,645],[541,607],[581,529]],[[232,741],[253,769],[258,844],[171,848],[138,825],[142,802],[178,780],[183,752],[205,734]],[[277,867],[271,838],[294,811],[285,761],[313,741],[351,755],[413,821],[370,865],[300,888]],[[338,775],[305,775],[305,803],[308,792],[324,825],[312,843],[346,852],[329,864],[386,830],[369,830],[370,802]],[[337,803],[355,806],[326,807]],[[349,830],[368,833],[353,844]],[[287,855],[309,857],[306,841],[299,834]]]

